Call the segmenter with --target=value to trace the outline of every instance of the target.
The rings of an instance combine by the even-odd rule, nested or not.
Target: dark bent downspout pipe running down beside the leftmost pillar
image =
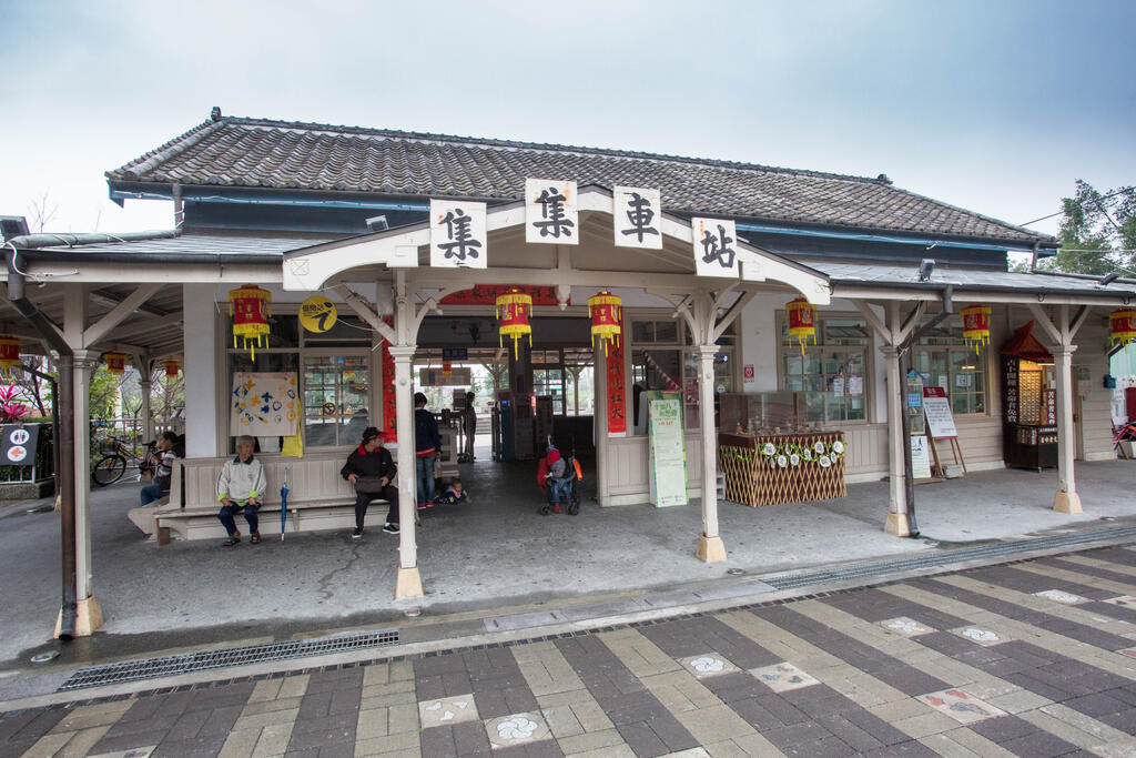
[[[27,299],[24,275],[16,267],[16,249],[6,249],[8,264],[8,300],[27,319],[59,356],[58,393],[53,405],[59,419],[55,444],[59,451],[56,484],[59,492],[59,528],[62,536],[62,606],[59,614],[59,639],[75,636],[78,610],[78,572],[75,564],[75,353],[51,320]]]

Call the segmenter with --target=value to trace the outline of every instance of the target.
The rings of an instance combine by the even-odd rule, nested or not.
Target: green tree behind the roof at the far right
[[[1062,198],[1061,249],[1056,270],[1076,274],[1136,274],[1136,186],[1101,193],[1077,180],[1077,191]]]

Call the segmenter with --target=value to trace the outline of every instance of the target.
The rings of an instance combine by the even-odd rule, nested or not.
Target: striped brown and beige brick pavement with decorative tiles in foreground
[[[1136,549],[3,714],[5,756],[1136,756]]]

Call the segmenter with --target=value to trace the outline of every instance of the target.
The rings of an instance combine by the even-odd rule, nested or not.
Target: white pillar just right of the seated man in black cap
[[[415,385],[411,376],[415,347],[394,345],[391,348],[391,357],[394,358],[394,398],[398,406],[395,420],[399,432],[399,577],[394,598],[402,600],[423,597],[418,544],[415,542],[415,517],[418,515],[415,482]]]

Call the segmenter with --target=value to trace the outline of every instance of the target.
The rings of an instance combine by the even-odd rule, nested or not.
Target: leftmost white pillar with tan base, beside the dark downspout
[[[94,599],[91,567],[91,375],[99,366],[98,350],[76,350],[75,380],[75,635],[86,636],[102,626],[102,610]]]

